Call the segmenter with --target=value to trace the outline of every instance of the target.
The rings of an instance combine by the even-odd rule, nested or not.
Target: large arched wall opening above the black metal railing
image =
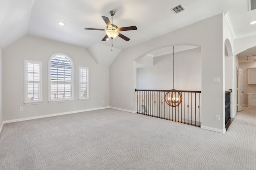
[[[137,89],[201,90],[202,57],[199,45],[173,44],[158,47],[135,61]]]

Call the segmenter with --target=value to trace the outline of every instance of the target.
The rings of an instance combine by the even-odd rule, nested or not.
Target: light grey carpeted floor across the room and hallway
[[[256,111],[225,134],[102,109],[4,124],[0,170],[255,170]]]

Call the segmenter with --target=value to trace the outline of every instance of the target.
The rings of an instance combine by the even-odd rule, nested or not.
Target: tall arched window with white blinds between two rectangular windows
[[[48,61],[48,101],[74,100],[73,62],[67,55],[54,54]]]

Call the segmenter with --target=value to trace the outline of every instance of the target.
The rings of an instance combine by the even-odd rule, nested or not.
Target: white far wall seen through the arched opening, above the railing
[[[200,47],[174,53],[174,88],[176,90],[201,90],[201,60]],[[141,90],[172,89],[172,70],[172,54],[154,57],[154,66],[137,69],[137,88]]]

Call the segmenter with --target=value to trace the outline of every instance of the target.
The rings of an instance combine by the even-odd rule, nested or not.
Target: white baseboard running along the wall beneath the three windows
[[[67,114],[72,114],[72,113],[80,113],[84,111],[92,111],[92,110],[99,110],[99,109],[107,109],[110,108],[108,107],[99,107],[99,108],[93,108],[93,109],[84,109],[84,110],[76,110],[76,111],[68,111],[68,112],[63,112],[63,113],[54,113],[54,114],[49,114],[49,115],[41,115],[41,116],[33,116],[33,117],[26,117],[26,118],[21,118],[21,119],[12,119],[12,120],[6,120],[3,121],[2,125],[4,123],[12,123],[12,122],[18,122],[18,121],[26,121],[26,120],[32,120],[32,119],[40,119],[44,117],[52,117],[52,116],[59,116],[59,115],[67,115]],[[1,127],[2,130],[2,127]],[[1,132],[1,131],[0,131]]]

